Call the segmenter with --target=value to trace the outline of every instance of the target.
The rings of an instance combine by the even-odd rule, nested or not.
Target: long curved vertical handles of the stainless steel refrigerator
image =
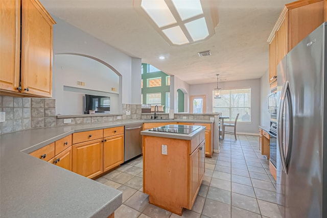
[[[284,111],[284,104],[285,104],[285,98],[286,98],[286,89],[288,86],[288,81],[285,82],[282,94],[281,94],[281,102],[279,103],[279,116],[278,116],[278,147],[279,147],[279,155],[281,155],[282,160],[282,166],[284,172],[287,174],[287,168],[286,168],[286,161],[285,161],[285,154],[284,154],[284,146],[283,146],[283,111]]]

